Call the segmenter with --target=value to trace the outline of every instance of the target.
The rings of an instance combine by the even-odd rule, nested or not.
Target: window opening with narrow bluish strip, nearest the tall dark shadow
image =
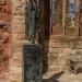
[[[62,0],[51,0],[51,34],[62,35]]]

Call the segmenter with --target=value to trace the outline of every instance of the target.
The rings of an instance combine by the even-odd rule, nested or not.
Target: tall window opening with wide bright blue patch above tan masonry
[[[75,36],[75,0],[66,0],[66,28],[65,34],[67,36]]]

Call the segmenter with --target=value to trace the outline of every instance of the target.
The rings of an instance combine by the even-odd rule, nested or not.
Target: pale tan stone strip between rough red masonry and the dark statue
[[[23,82],[23,40],[25,39],[25,0],[12,0],[12,56],[8,82]]]

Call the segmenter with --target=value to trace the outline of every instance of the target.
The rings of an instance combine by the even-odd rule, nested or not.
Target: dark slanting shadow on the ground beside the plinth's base
[[[56,73],[52,77],[50,77],[49,79],[43,80],[43,82],[59,82],[57,79],[59,79],[63,73],[65,73],[63,71]]]

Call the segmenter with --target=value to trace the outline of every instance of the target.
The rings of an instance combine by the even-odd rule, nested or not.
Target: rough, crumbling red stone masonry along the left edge
[[[0,81],[7,80],[10,72],[11,17],[11,0],[0,0]]]

